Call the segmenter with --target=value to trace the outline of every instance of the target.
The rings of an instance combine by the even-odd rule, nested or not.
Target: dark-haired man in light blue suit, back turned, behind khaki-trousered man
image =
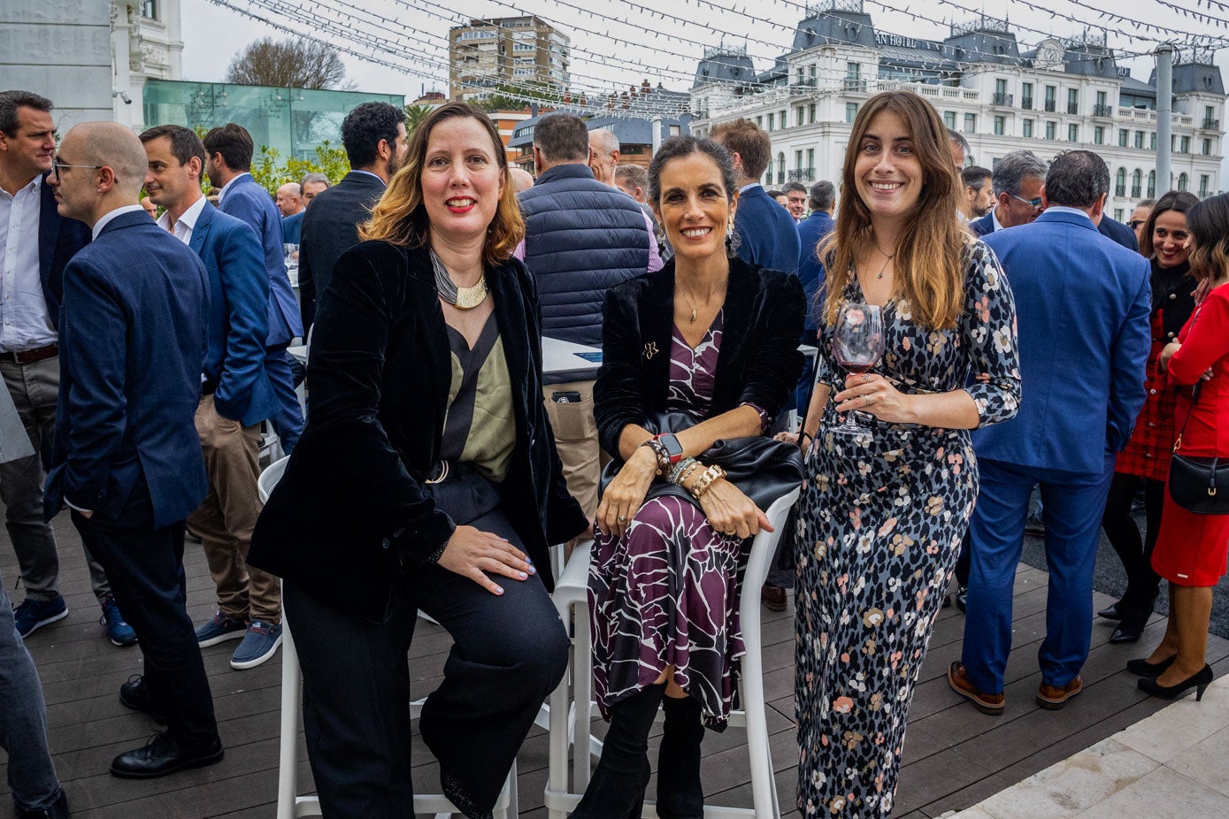
[[[269,194],[256,183],[248,171],[252,167],[252,136],[247,130],[227,123],[205,134],[205,173],[215,188],[220,209],[243,220],[261,237],[264,248],[264,266],[269,274],[269,336],[265,341],[264,371],[278,397],[273,414],[273,429],[281,438],[281,451],[286,454],[299,443],[304,431],[302,408],[295,394],[294,371],[286,347],[295,336],[302,335],[299,303],[286,275],[286,258],[281,247],[281,214]]]

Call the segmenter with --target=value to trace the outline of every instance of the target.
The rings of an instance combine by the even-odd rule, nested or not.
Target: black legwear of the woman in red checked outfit
[[[1144,489],[1145,533],[1139,538],[1139,527],[1131,516],[1136,491]],[[1160,587],[1160,576],[1152,569],[1152,553],[1160,534],[1160,513],[1165,508],[1165,481],[1148,480],[1138,475],[1113,473],[1110,496],[1105,501],[1101,528],[1122,567],[1127,572],[1127,591],[1122,594],[1123,620],[1129,626],[1142,626],[1152,614],[1153,603]]]

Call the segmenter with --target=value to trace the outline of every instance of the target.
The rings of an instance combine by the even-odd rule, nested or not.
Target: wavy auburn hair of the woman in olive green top
[[[482,124],[490,136],[492,150],[499,169],[504,174],[504,193],[499,198],[495,217],[487,228],[487,241],[482,246],[482,259],[487,264],[499,264],[512,254],[525,238],[525,220],[516,201],[516,187],[508,173],[508,155],[499,130],[481,109],[467,102],[450,102],[433,111],[414,131],[409,141],[406,163],[388,182],[371,219],[359,226],[359,238],[382,239],[406,247],[426,247],[431,239],[431,222],[423,204],[423,163],[431,130],[446,119],[468,117]]]

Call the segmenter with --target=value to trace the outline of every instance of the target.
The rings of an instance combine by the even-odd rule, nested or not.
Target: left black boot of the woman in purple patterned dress
[[[666,686],[649,685],[611,708],[602,758],[571,819],[639,819],[649,785],[649,731]],[[586,753],[578,748],[576,753]]]

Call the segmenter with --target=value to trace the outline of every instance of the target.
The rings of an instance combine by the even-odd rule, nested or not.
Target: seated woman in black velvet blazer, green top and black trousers
[[[586,521],[542,404],[537,293],[511,258],[524,223],[485,114],[436,109],[360,236],[375,241],[340,257],[321,300],[307,429],[249,561],[283,578],[324,815],[414,813],[423,610],[455,646],[419,729],[444,793],[489,817],[567,666],[547,546]]]

